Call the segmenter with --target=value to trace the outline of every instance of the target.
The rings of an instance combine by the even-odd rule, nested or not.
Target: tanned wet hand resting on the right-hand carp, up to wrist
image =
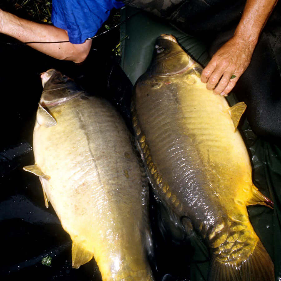
[[[232,37],[202,71],[201,81],[216,95],[227,96],[251,61],[255,45]]]

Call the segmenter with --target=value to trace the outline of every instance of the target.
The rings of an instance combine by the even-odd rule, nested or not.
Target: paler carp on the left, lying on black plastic
[[[145,170],[121,116],[105,100],[86,96],[51,69],[33,133],[45,204],[52,203],[72,239],[72,266],[94,256],[102,280],[154,280],[146,259]]]

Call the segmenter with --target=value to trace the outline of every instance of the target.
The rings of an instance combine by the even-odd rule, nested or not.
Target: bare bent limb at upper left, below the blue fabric
[[[36,22],[19,18],[0,9],[0,33],[14,37],[22,42],[54,42],[68,41],[67,31]],[[86,59],[91,41],[86,40],[82,44],[55,43],[55,44],[29,44],[30,47],[43,52],[51,57],[69,60],[76,63]]]

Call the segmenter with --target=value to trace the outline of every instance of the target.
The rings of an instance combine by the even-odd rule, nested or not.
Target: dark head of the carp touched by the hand
[[[194,63],[174,36],[162,34],[155,41],[149,74],[150,76],[171,76],[184,72]]]

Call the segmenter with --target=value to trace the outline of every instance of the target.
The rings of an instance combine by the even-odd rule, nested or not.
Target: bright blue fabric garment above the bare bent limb
[[[122,6],[116,0],[53,0],[52,23],[67,30],[71,43],[81,44],[96,34],[112,8]]]

